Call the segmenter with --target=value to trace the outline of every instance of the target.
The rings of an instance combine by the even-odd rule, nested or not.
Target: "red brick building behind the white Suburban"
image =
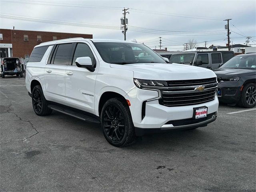
[[[74,37],[92,38],[92,34],[0,29],[0,58],[28,58],[34,46],[42,42]]]

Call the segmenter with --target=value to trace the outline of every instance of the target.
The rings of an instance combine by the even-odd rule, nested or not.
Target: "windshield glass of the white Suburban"
[[[166,63],[156,52],[143,44],[94,42],[104,62],[113,64]]]

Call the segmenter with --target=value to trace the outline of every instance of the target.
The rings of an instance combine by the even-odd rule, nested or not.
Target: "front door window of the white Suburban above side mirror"
[[[76,65],[76,58],[78,57],[90,57],[92,60],[92,64],[95,64],[96,62],[90,47],[84,43],[77,44],[72,65]]]

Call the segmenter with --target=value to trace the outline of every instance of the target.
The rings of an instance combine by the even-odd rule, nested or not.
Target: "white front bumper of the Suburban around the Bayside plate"
[[[157,91],[137,88],[129,92],[126,99],[130,100],[132,120],[138,135],[140,135],[139,132],[144,131],[161,132],[165,130],[189,129],[195,126],[206,126],[216,119],[218,113],[218,97],[216,95],[214,100],[203,104],[168,107],[159,104]],[[143,103],[145,103],[144,111],[142,110]],[[208,114],[214,114],[214,118],[207,119],[207,121],[204,121],[202,118],[202,122],[192,121],[192,123],[187,123],[188,120],[192,120],[193,118],[193,108],[202,106],[208,107]],[[143,112],[145,113],[144,116],[142,115]],[[181,123],[172,124],[170,123],[172,121],[176,121],[175,123],[180,121]]]

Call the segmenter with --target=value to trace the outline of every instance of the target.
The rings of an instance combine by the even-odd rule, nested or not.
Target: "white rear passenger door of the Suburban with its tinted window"
[[[73,43],[57,44],[50,54],[44,72],[45,94],[48,100],[65,104],[65,74],[67,66],[71,63],[73,46]]]

